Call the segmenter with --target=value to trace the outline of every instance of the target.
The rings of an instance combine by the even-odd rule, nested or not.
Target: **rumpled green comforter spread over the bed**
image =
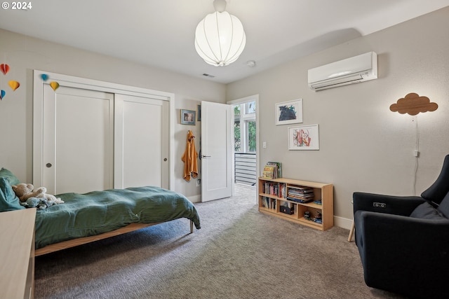
[[[157,187],[57,195],[65,203],[36,213],[36,249],[78,237],[99,235],[130,223],[158,223],[199,215],[184,195]]]

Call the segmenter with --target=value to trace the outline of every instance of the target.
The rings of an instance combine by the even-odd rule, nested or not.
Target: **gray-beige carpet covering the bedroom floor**
[[[348,230],[261,214],[255,189],[186,219],[36,258],[35,298],[401,298],[369,288]]]

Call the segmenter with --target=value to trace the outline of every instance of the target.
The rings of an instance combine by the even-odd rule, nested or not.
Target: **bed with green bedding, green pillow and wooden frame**
[[[11,171],[0,169],[0,212],[25,209],[12,188],[18,183]],[[64,203],[36,210],[36,256],[178,218],[190,220],[190,232],[193,225],[201,228],[194,204],[184,195],[163,188],[147,186],[56,196]]]

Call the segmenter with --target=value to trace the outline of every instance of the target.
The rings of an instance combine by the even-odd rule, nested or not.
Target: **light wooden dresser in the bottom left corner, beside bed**
[[[2,298],[34,298],[34,220],[36,209],[0,213]]]

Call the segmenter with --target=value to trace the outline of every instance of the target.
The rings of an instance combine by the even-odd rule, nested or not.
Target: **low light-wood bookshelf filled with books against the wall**
[[[293,192],[291,192],[292,190]],[[295,193],[294,191],[300,193],[300,195],[292,195],[292,193]],[[313,200],[310,202],[300,202],[311,198]],[[260,177],[258,179],[258,202],[260,212],[300,223],[310,228],[328,230],[334,225],[333,184],[330,183]],[[321,202],[321,204],[316,202]],[[290,211],[293,210],[293,214],[281,211],[288,211],[284,208],[286,206]],[[310,220],[304,218],[306,211],[310,213]],[[318,214],[321,214],[321,221],[316,218]]]

